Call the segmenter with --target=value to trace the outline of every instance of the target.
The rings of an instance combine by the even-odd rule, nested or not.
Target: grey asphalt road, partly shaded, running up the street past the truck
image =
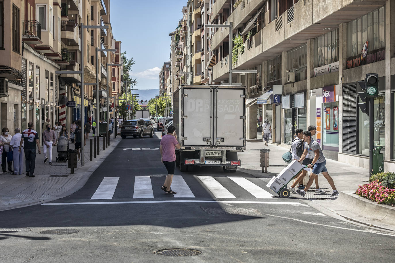
[[[160,189],[166,173],[160,152],[147,149],[159,143],[160,132],[128,137],[71,196],[0,212],[0,228],[31,229],[0,229],[0,262],[388,262],[395,256],[395,234],[273,196],[267,179],[243,172],[176,168],[177,194],[167,195]],[[79,232],[40,233],[51,229]],[[202,253],[155,253],[166,248]]]

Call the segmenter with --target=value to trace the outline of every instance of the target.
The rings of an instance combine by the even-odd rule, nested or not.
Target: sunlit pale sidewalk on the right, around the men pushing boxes
[[[270,149],[267,173],[261,172],[260,149]],[[239,171],[269,182],[274,175],[278,175],[287,166],[282,160],[282,155],[287,151],[289,151],[288,145],[286,147],[271,144],[265,146],[259,140],[248,140],[247,150],[238,155],[242,164]],[[318,183],[327,194],[315,194],[315,183],[313,183],[305,197],[291,194],[290,198],[298,198],[322,212],[333,212],[347,220],[395,231],[395,207],[380,205],[355,194],[358,185],[369,183],[368,169],[330,159],[327,159],[326,167],[335,187],[340,192],[337,198],[329,197],[332,188],[322,175],[318,176]],[[304,183],[307,182],[307,178],[306,176]]]

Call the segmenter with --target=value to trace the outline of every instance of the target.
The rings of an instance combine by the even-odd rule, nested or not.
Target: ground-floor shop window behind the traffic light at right
[[[359,99],[359,103],[362,103],[361,99]],[[371,105],[372,106],[372,105]],[[384,159],[385,159],[385,138],[386,138],[386,127],[385,127],[385,121],[386,121],[386,112],[385,112],[385,96],[380,95],[376,98],[374,98],[374,104],[373,104],[373,116],[371,116],[374,119],[374,129],[373,129],[373,147],[377,146],[382,146],[383,149],[381,150],[381,153],[384,154]],[[359,149],[358,149],[358,154],[361,155],[367,155],[369,156],[369,117],[361,112],[361,109],[359,109],[359,129],[358,129],[358,138],[359,138]]]

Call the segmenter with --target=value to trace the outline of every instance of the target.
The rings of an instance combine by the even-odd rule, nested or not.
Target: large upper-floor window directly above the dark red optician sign
[[[384,6],[347,23],[347,57],[361,54],[366,41],[368,50],[385,47]]]

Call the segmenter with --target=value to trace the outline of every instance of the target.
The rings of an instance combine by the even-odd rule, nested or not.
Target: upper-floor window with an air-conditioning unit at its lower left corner
[[[295,82],[307,79],[307,43],[287,52],[287,69],[295,73]]]

